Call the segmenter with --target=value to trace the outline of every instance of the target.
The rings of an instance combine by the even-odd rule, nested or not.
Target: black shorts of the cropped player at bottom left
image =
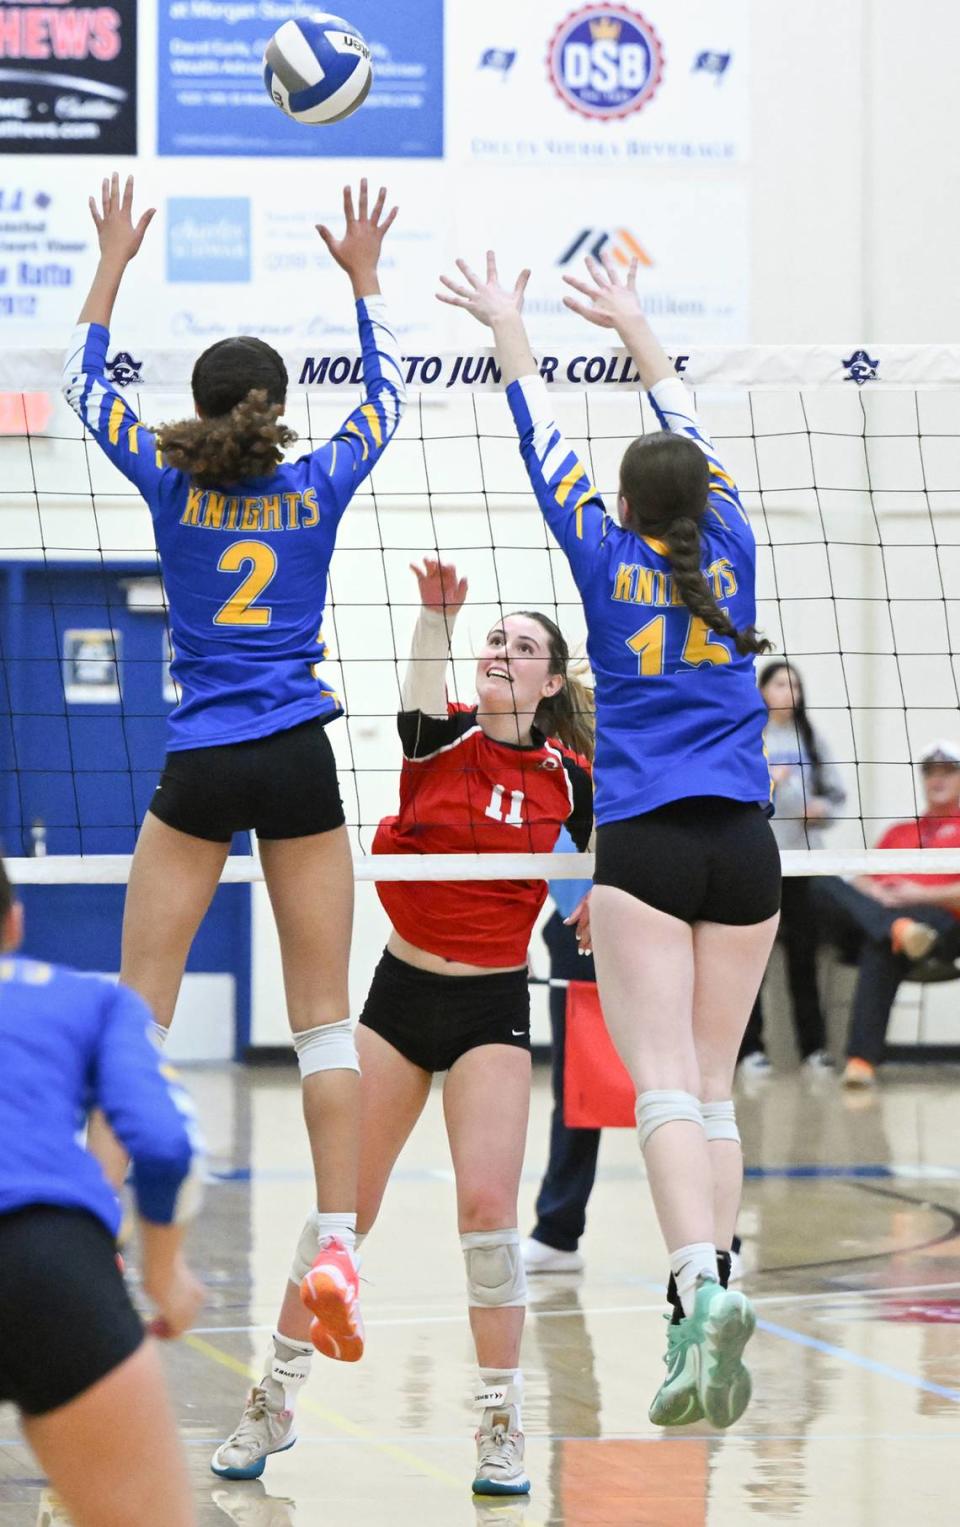
[[[142,1341],[116,1243],[96,1215],[46,1205],[0,1214],[0,1400],[46,1416]]]

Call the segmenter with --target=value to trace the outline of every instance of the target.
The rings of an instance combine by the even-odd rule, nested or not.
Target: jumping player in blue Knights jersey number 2
[[[121,980],[166,1029],[194,935],[234,832],[256,831],[279,935],[287,1012],[304,1084],[316,1208],[293,1263],[321,1246],[330,1270],[317,1345],[360,1356],[356,1229],[359,1067],[348,1017],[353,864],[325,725],[342,713],[317,673],[327,573],[340,516],[392,438],[403,406],[397,342],[377,264],[395,209],[343,192],[346,231],[319,234],[357,302],[365,402],[333,440],[284,461],[282,359],[259,339],[211,345],[194,366],[197,418],[147,429],[104,373],[108,324],[153,212],[133,221],[133,180],[90,199],[101,260],[64,365],[64,392],[143,495],[169,603],[172,673],[163,776],[133,857]],[[293,1274],[292,1274],[293,1275]],[[314,1286],[324,1278],[314,1275]],[[290,1296],[296,1299],[298,1290]],[[321,1327],[327,1330],[325,1345]]]

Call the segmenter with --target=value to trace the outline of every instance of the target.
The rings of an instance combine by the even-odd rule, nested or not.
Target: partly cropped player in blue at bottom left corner
[[[96,1104],[133,1157],[153,1330],[179,1336],[203,1299],[180,1249],[198,1200],[192,1110],[145,1003],[15,957],[21,925],[0,861],[0,1403],[72,1518],[189,1527],[160,1362],[116,1264],[121,1205],[78,1133]]]

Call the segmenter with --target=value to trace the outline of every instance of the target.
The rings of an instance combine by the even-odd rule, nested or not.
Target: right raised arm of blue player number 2
[[[313,469],[330,487],[334,508],[342,515],[360,483],[397,432],[406,403],[406,386],[397,336],[386,321],[386,304],[380,295],[379,263],[383,238],[397,208],[383,217],[386,188],[368,209],[366,180],[360,180],[359,209],[354,212],[353,191],[343,186],[345,232],[334,238],[317,223],[327,249],[350,276],[357,302],[357,327],[363,360],[363,402],[343,420],[336,435],[313,452]]]

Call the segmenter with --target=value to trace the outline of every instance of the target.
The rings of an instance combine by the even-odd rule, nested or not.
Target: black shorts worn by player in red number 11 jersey
[[[360,1023],[421,1070],[449,1070],[479,1044],[530,1049],[525,970],[435,976],[385,950]]]

